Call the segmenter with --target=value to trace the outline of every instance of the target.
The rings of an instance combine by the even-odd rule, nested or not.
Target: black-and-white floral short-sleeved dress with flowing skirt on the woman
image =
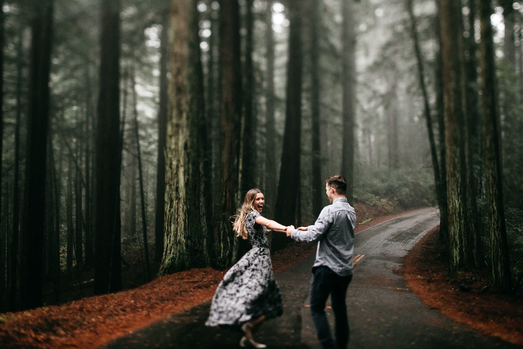
[[[265,315],[281,316],[280,290],[272,273],[267,228],[256,223],[258,211],[248,212],[245,226],[252,245],[229,269],[212,298],[207,326],[242,325]]]

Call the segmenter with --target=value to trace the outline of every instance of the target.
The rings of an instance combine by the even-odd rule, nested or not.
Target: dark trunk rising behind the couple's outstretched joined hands
[[[289,64],[287,67],[287,100],[283,150],[281,154],[280,181],[276,200],[276,221],[294,224],[296,200],[300,185],[301,155],[301,94],[302,94],[302,42],[300,4],[289,3]],[[287,244],[284,234],[272,235],[272,249],[279,250]]]

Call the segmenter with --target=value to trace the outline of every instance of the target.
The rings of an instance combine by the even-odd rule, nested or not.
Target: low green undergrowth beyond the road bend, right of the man
[[[391,202],[402,208],[435,205],[434,178],[429,168],[362,168],[355,176],[355,199],[370,206]]]

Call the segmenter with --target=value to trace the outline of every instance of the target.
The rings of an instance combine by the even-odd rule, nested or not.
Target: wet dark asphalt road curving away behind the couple
[[[354,277],[347,291],[349,348],[522,347],[486,337],[430,309],[395,273],[408,250],[438,224],[436,209],[428,208],[356,234]],[[321,348],[308,308],[314,257],[276,273],[283,316],[265,322],[255,335],[268,348]],[[204,302],[121,337],[106,348],[239,348],[241,331],[204,326],[209,307],[210,301]],[[333,328],[332,310],[326,312]]]

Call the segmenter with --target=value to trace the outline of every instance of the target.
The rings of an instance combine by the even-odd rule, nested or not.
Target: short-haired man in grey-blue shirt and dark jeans
[[[353,278],[354,228],[356,213],[345,196],[347,181],[342,175],[327,178],[325,190],[332,205],[325,206],[316,222],[309,227],[287,229],[295,241],[318,241],[312,267],[311,314],[323,348],[334,348],[325,316],[325,303],[331,295],[335,319],[336,347],[346,349],[349,322],[345,298]]]

